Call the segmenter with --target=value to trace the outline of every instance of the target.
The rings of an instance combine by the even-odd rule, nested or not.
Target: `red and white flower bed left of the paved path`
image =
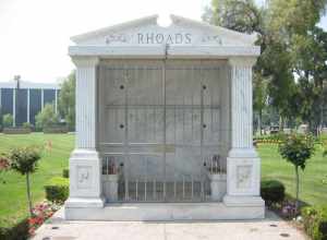
[[[41,226],[48,218],[50,218],[58,209],[60,205],[51,203],[49,201],[44,201],[37,204],[33,208],[33,217],[28,218],[29,236],[35,235],[35,230]]]

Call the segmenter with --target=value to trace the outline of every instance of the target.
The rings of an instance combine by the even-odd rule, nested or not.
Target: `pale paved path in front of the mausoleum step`
[[[304,240],[288,223],[268,213],[252,221],[65,221],[62,209],[33,240]]]

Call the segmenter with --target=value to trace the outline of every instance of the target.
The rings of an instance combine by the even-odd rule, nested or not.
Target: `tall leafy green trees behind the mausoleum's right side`
[[[253,0],[211,0],[205,9],[203,19],[211,24],[258,34],[262,55],[254,67],[258,125],[268,106],[278,111],[281,129],[295,119],[308,123],[313,133],[322,125],[327,104],[327,33],[316,24],[326,4],[327,0],[274,0],[259,7]]]

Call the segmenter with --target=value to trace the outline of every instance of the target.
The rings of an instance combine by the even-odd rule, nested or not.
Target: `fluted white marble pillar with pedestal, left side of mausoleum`
[[[76,142],[70,157],[70,197],[65,217],[76,219],[78,208],[104,207],[101,159],[97,152],[96,57],[73,57],[76,65]],[[78,218],[78,217],[77,217]]]

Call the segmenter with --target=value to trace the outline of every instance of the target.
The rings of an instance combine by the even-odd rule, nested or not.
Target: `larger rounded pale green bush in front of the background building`
[[[44,109],[35,116],[37,129],[50,128],[59,124],[59,116],[55,111],[55,106],[47,104]]]

